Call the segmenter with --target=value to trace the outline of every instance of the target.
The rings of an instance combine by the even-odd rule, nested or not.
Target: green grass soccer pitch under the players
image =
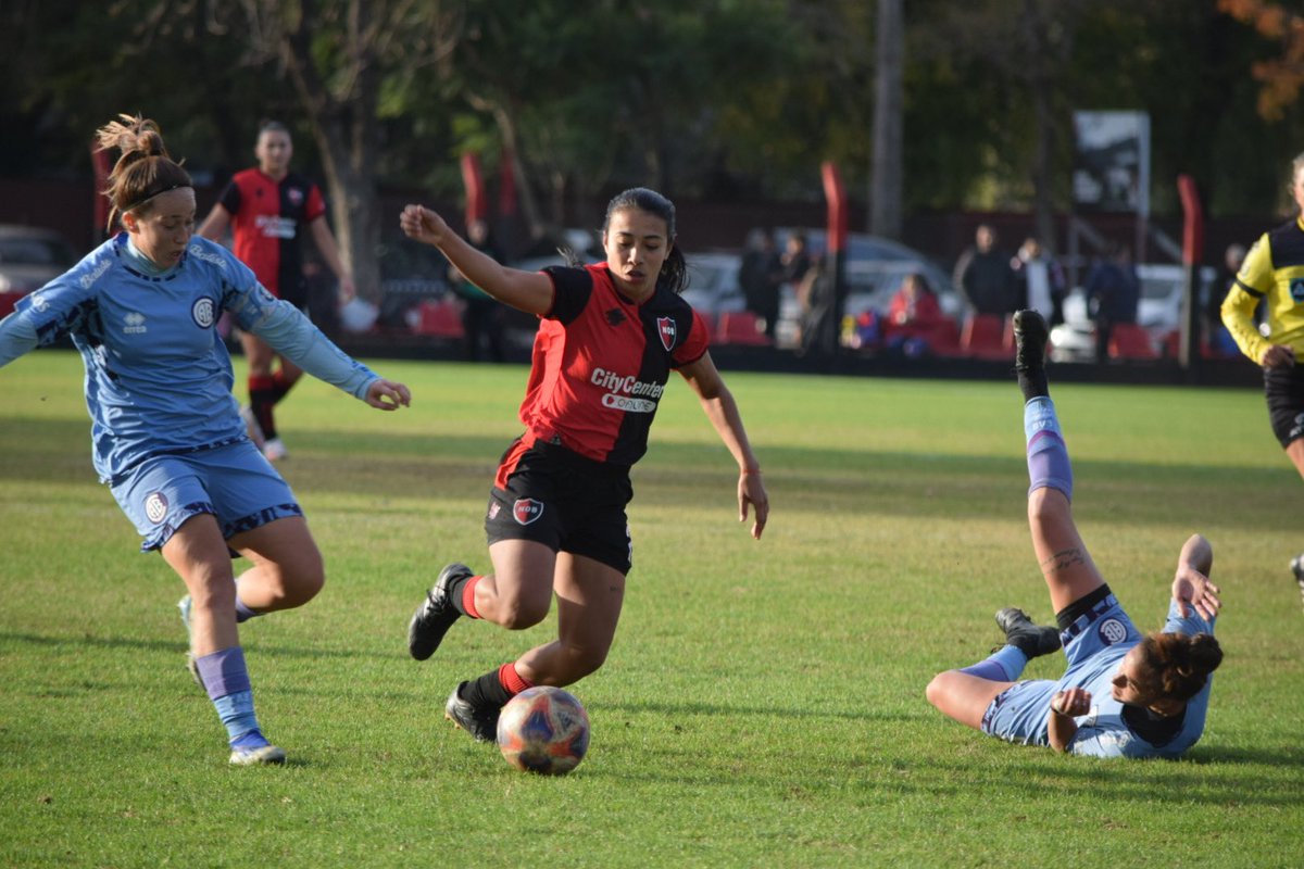
[[[485,567],[481,515],[523,367],[377,361],[413,406],[304,383],[283,465],[327,562],[309,606],[241,631],[291,762],[231,769],[184,668],[180,580],[89,457],[76,354],[0,370],[0,865],[1300,866],[1304,486],[1257,391],[1054,387],[1078,525],[1142,628],[1178,550],[1223,586],[1209,726],[1180,762],[1055,756],[923,698],[982,658],[992,614],[1048,620],[1013,383],[726,373],[771,524],[673,384],[635,469],[635,569],[593,723],[562,779],[442,718],[459,679],[554,632],[404,633],[439,567]],[[1060,659],[1028,675],[1054,676]]]

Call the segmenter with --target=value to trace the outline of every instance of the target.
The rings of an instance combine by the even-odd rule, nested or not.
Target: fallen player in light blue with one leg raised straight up
[[[1007,645],[964,670],[938,674],[928,702],[985,734],[1098,757],[1178,757],[1205,727],[1213,637],[1222,602],[1209,581],[1213,550],[1193,534],[1178,556],[1163,631],[1141,636],[1110,591],[1073,525],[1073,473],[1046,380],[1046,321],[1015,314],[1015,369],[1024,391],[1028,520],[1059,629],[1008,607],[996,614]],[[1029,658],[1063,644],[1058,681],[1024,680]]]

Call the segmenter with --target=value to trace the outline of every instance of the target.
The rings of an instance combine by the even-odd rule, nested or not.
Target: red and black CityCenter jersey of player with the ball
[[[707,352],[707,326],[678,294],[657,287],[625,298],[605,263],[552,267],[553,306],[535,336],[520,405],[527,447],[557,443],[596,461],[632,465],[672,369]]]

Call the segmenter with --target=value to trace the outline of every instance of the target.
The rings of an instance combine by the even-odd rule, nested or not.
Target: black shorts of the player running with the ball
[[[503,460],[512,453],[509,448]],[[548,443],[533,444],[514,461],[507,487],[494,486],[489,492],[485,535],[490,545],[535,541],[554,552],[630,572],[634,543],[625,506],[634,487],[629,468]]]

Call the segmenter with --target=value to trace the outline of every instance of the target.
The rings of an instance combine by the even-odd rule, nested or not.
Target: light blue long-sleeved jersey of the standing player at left
[[[113,483],[153,456],[245,439],[222,311],[356,397],[377,379],[222,245],[196,236],[176,266],[155,272],[125,232],[18,301],[0,322],[0,365],[72,337],[86,366],[95,470]]]

